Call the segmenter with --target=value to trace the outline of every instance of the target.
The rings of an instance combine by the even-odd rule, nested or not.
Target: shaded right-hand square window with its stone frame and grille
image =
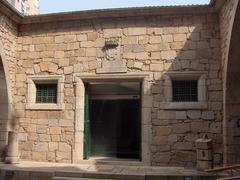
[[[168,72],[164,74],[162,109],[206,109],[206,72]]]

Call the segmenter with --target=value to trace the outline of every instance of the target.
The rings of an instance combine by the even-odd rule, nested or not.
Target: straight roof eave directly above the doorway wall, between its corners
[[[203,14],[213,12],[215,12],[214,8],[210,7],[209,5],[118,8],[25,16],[22,24],[99,18],[123,18],[133,16]]]

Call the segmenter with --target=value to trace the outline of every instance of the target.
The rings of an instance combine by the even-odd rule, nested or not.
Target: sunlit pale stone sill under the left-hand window
[[[61,104],[36,104],[36,103],[32,103],[32,104],[27,104],[26,105],[26,109],[27,110],[63,110],[65,108],[65,104],[61,103]]]

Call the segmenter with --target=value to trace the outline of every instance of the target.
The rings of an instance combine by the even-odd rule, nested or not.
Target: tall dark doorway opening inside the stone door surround
[[[85,159],[135,159],[141,157],[141,83],[88,83],[89,125]]]

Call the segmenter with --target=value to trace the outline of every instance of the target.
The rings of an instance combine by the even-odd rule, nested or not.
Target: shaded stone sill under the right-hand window
[[[160,107],[166,110],[207,109],[207,102],[162,102]]]

